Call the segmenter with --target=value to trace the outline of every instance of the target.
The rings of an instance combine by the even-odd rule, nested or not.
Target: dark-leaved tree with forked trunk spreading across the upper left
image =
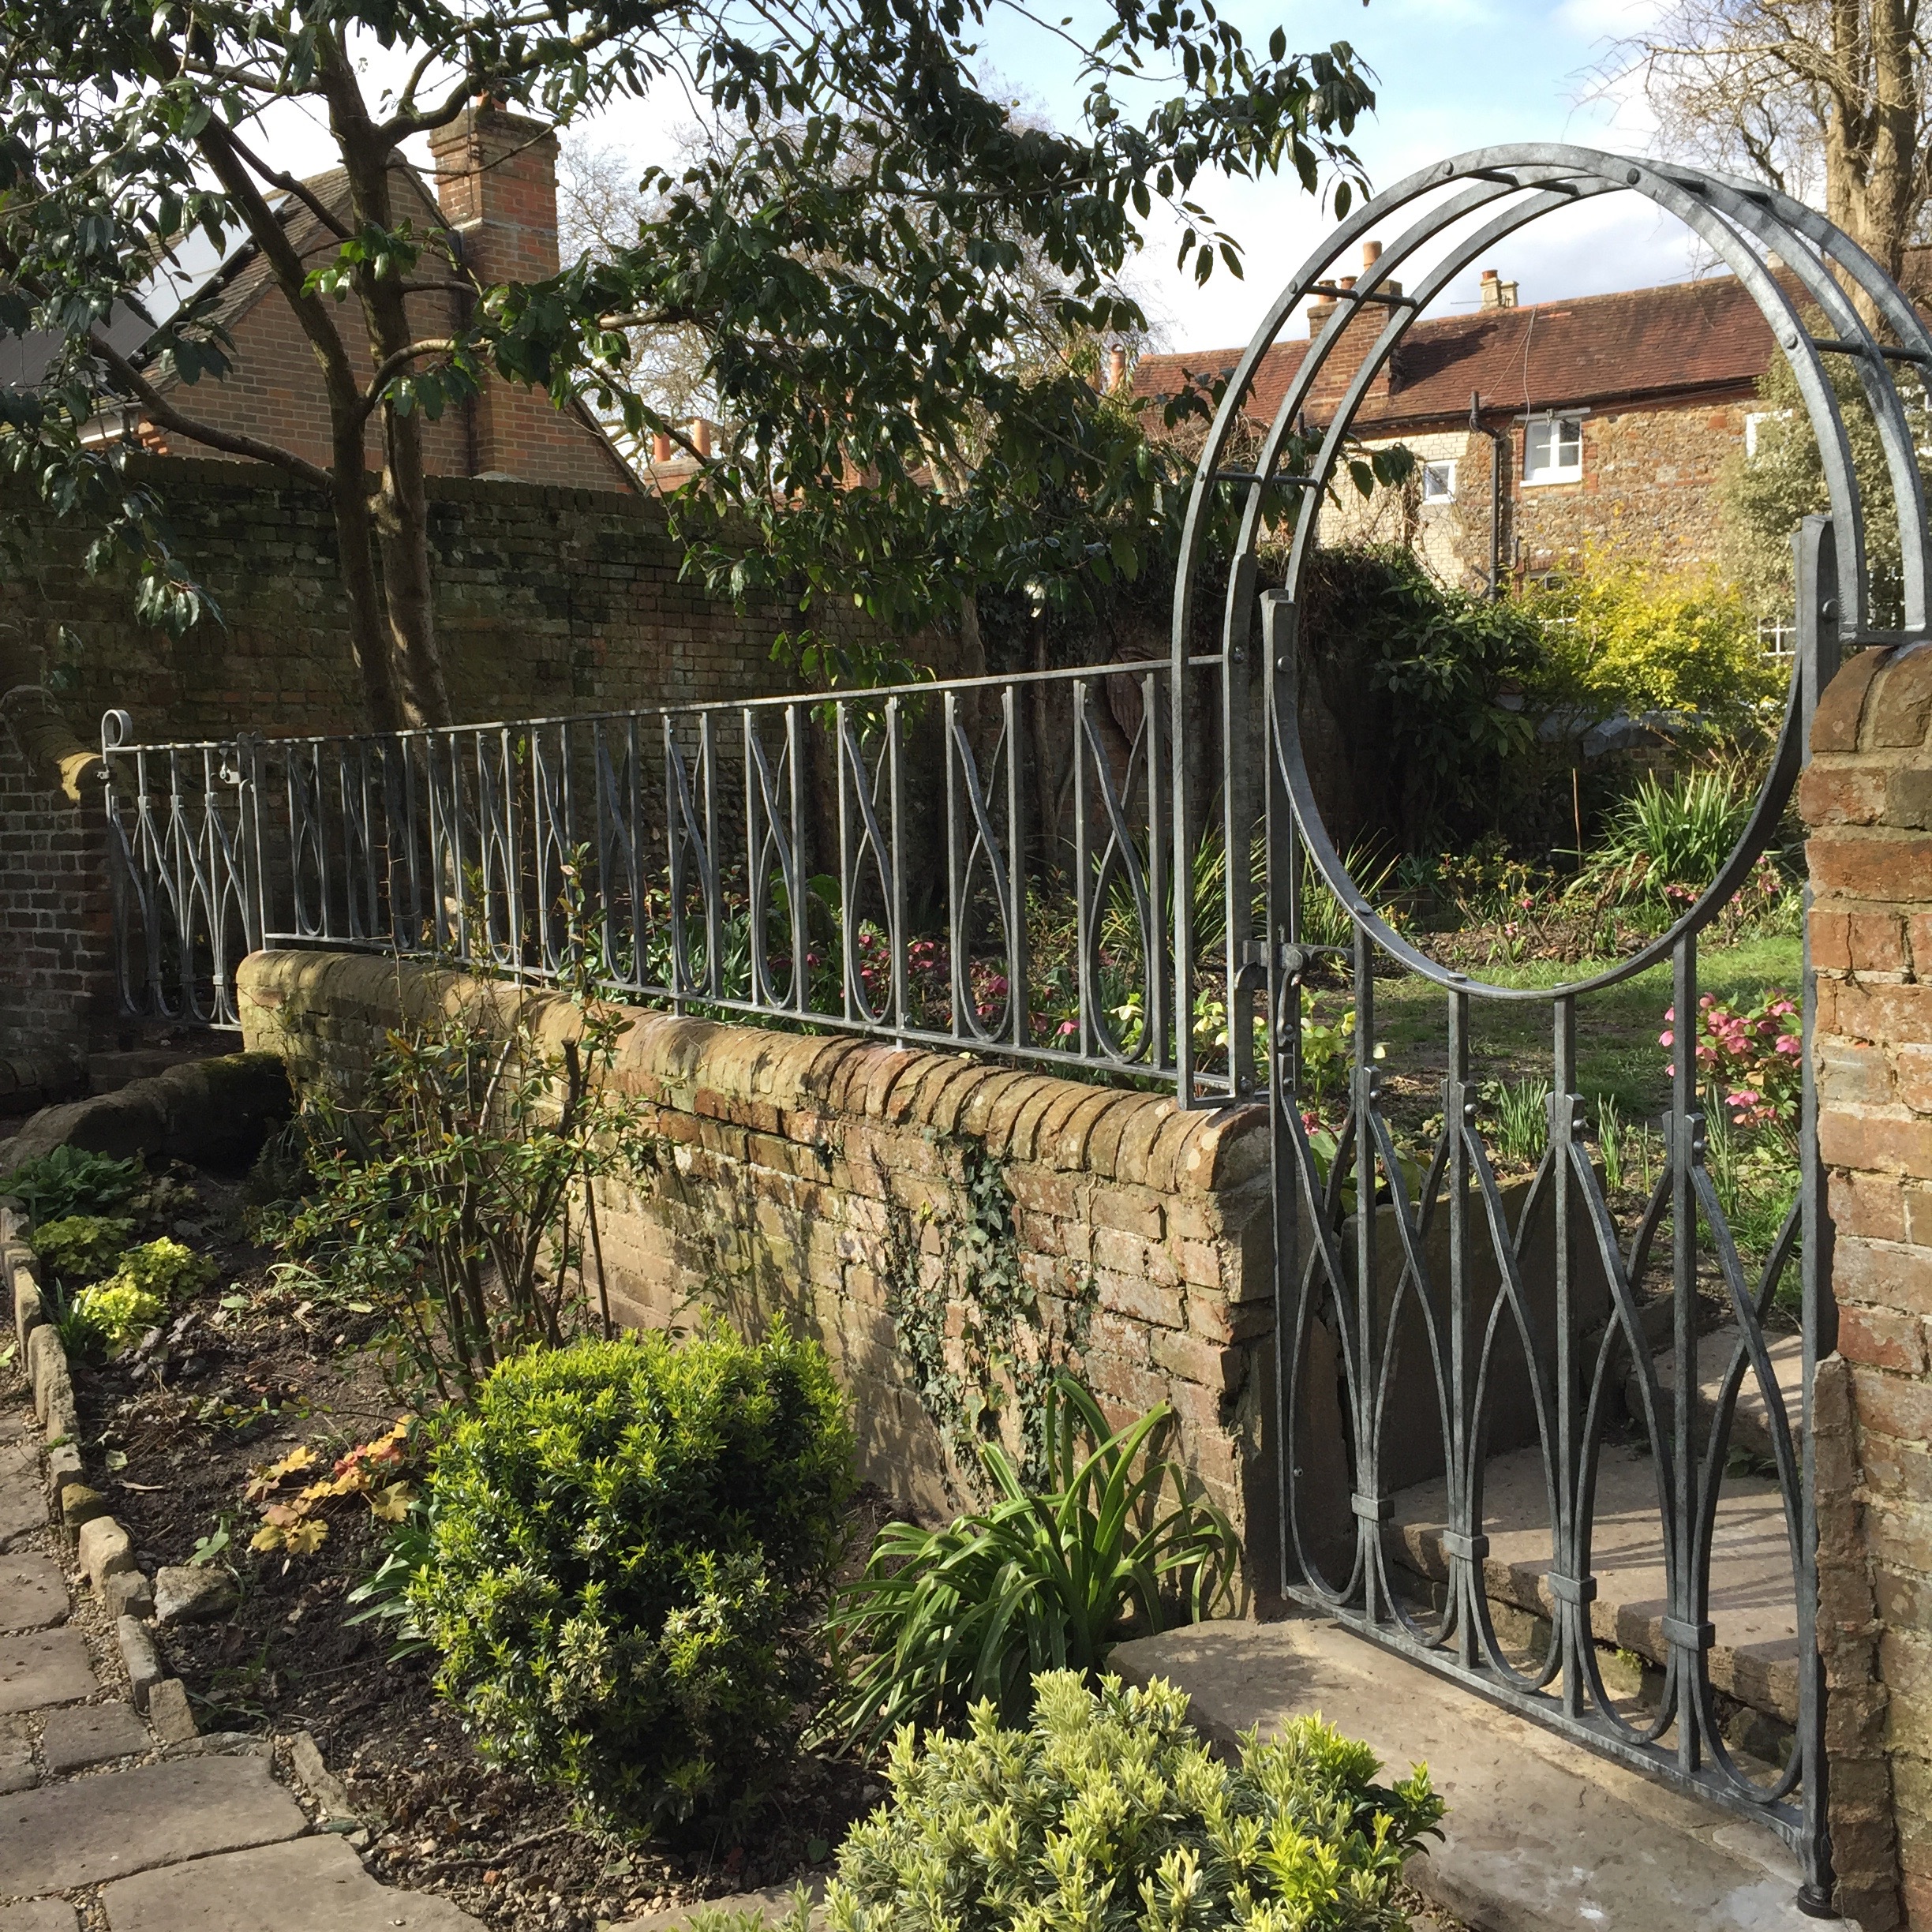
[[[373,724],[446,717],[429,595],[421,423],[491,373],[589,400],[634,435],[682,425],[628,383],[639,328],[696,330],[728,425],[680,495],[713,585],[858,603],[912,630],[987,578],[1132,572],[1159,462],[1097,408],[1074,354],[1020,354],[1051,311],[1078,346],[1142,317],[1117,272],[1157,201],[1180,261],[1238,272],[1200,199],[1289,170],[1339,205],[1374,104],[1345,43],[1250,46],[1213,0],[1107,0],[1080,46],[1074,131],[1022,124],[974,81],[987,0],[0,0],[0,332],[33,350],[0,394],[0,450],[60,508],[141,558],[143,611],[199,593],[102,423],[139,404],[174,440],[278,464],[332,497]],[[1063,37],[1070,27],[1051,27]],[[363,56],[396,75],[373,87]],[[477,284],[398,187],[404,143],[483,97],[572,124],[682,81],[724,129],[645,182],[636,242],[543,282]],[[327,122],[346,213],[278,170],[274,116]],[[301,205],[330,236],[290,247]],[[207,301],[172,313],[156,270],[191,238],[261,249],[325,375],[332,458],[197,419],[232,342]],[[412,296],[468,319],[417,332]],[[446,313],[448,303],[442,305]],[[135,350],[129,344],[141,344]],[[365,452],[379,466],[371,493]],[[1043,522],[1045,497],[1080,514]]]

